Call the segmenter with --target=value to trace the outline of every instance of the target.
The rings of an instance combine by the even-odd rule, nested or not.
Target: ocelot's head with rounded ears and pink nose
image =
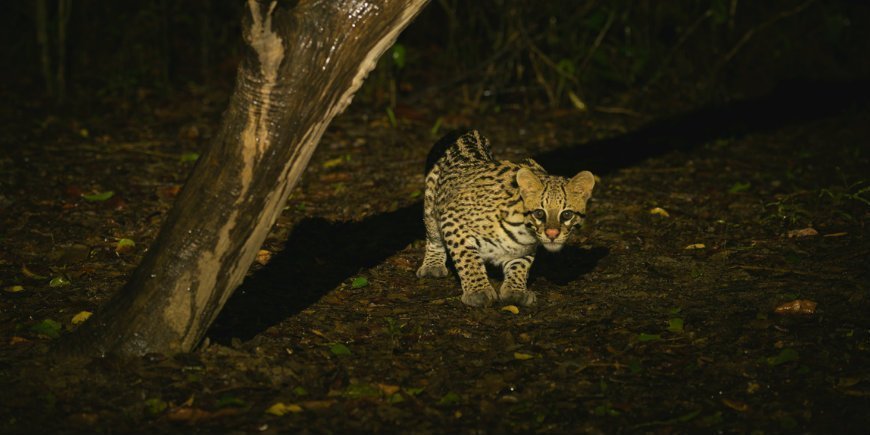
[[[550,252],[562,249],[568,234],[586,219],[586,202],[595,177],[583,171],[570,180],[522,168],[517,185],[526,209],[526,226]]]

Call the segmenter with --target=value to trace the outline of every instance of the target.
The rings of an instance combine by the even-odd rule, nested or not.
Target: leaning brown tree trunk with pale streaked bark
[[[329,122],[426,3],[248,0],[247,50],[218,134],[127,284],[61,352],[192,350],[241,283]]]

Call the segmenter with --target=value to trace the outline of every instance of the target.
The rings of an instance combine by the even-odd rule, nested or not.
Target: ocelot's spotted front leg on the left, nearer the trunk
[[[450,257],[462,283],[462,303],[472,307],[486,307],[496,299],[495,289],[486,276],[486,266],[480,256],[474,237],[457,235],[456,243],[446,240]]]

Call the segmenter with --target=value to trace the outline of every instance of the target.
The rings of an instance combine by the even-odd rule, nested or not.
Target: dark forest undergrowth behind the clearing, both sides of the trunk
[[[124,110],[232,85],[243,2],[47,1],[43,44],[38,3],[3,6],[7,92]],[[436,0],[357,99],[608,107],[650,91],[706,102],[854,80],[870,74],[868,15],[858,0]]]

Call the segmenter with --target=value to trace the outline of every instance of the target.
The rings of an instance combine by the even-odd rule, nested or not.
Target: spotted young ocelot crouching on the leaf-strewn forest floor
[[[455,138],[455,140],[454,140]],[[462,283],[462,302],[474,307],[502,303],[531,305],[526,289],[538,245],[562,249],[568,234],[586,218],[595,178],[548,175],[538,163],[495,160],[477,130],[445,137],[430,153],[424,216],[426,254],[418,277],[448,275],[447,254]],[[439,149],[440,148],[440,149]],[[496,293],[485,263],[501,267]]]

